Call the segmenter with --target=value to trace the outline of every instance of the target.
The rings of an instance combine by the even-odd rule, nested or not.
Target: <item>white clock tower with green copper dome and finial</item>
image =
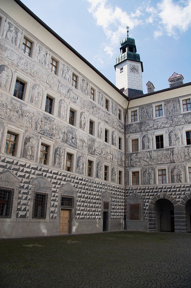
[[[120,56],[116,58],[116,87],[132,98],[143,94],[143,62],[140,60],[135,39],[127,37],[121,40]]]

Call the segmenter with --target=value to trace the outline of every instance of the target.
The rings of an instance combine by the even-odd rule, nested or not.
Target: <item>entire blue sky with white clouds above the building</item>
[[[182,74],[191,82],[191,0],[22,0],[77,52],[115,84],[120,41],[135,39],[143,62],[143,92],[169,88]]]

